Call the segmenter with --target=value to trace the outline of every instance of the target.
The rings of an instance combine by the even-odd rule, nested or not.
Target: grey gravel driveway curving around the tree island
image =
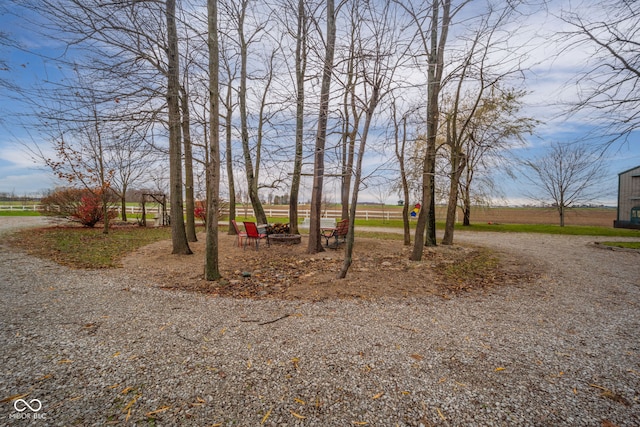
[[[0,425],[639,426],[640,254],[456,238],[545,273],[450,300],[233,300],[0,240]]]

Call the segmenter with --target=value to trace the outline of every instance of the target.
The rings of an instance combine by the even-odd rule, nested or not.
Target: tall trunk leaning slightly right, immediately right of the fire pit
[[[311,218],[309,222],[308,253],[324,251],[320,234],[320,217],[322,216],[322,185],[324,181],[324,148],[327,139],[327,121],[329,116],[329,95],[331,74],[333,72],[333,55],[336,43],[336,21],[334,0],[327,0],[327,46],[322,71],[320,89],[320,112],[318,114],[318,131],[314,153],[313,190],[311,192]]]

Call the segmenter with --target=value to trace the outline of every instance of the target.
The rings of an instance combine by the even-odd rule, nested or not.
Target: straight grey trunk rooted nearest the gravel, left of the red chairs
[[[220,48],[218,46],[218,1],[207,0],[207,44],[209,47],[209,163],[207,164],[207,237],[205,242],[205,280],[218,280],[218,210],[220,207]]]

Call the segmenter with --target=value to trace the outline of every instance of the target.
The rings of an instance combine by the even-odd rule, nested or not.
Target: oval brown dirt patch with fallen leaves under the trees
[[[305,253],[300,245],[260,243],[239,248],[235,236],[221,234],[219,263],[223,279],[204,280],[204,241],[190,243],[193,255],[171,255],[171,242],[145,246],[123,260],[123,267],[165,289],[236,298],[323,300],[328,298],[452,297],[492,286],[526,283],[539,274],[527,260],[484,248],[425,248],[423,260],[409,261],[401,241],[358,238],[346,279],[337,274],[344,249]]]

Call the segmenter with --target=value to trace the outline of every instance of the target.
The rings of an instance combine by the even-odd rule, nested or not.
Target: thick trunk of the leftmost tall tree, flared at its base
[[[167,106],[169,110],[169,199],[171,203],[172,254],[191,254],[184,228],[182,203],[182,148],[178,75],[176,0],[167,0]]]

